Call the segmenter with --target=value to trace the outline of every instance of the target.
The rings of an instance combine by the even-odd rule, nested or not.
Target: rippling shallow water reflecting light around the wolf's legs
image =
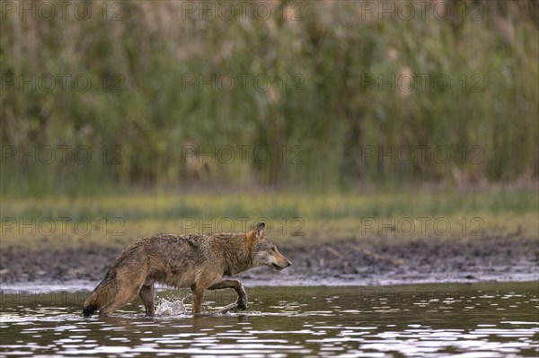
[[[192,317],[187,291],[160,291],[155,319],[140,301],[83,319],[88,293],[7,292],[0,356],[520,357],[539,350],[536,283],[258,287],[244,313],[216,313],[234,292],[207,293]]]

